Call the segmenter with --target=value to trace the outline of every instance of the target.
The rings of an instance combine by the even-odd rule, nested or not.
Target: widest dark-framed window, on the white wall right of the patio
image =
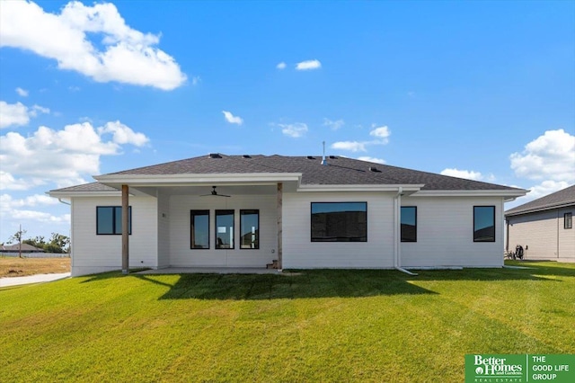
[[[367,242],[367,202],[312,202],[312,242]]]

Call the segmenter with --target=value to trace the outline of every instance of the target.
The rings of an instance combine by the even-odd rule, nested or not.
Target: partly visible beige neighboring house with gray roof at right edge
[[[505,212],[506,248],[523,246],[526,259],[575,262],[575,185]]]

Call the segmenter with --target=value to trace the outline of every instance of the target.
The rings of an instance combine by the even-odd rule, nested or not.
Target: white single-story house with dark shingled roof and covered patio
[[[526,194],[337,156],[211,154],[94,178],[49,191],[71,202],[73,275],[123,268],[122,211],[130,267],[501,267],[503,203]]]

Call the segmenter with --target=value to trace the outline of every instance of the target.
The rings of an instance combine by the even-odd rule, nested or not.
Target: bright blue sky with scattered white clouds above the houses
[[[45,192],[225,154],[575,183],[575,2],[0,1],[0,242]]]

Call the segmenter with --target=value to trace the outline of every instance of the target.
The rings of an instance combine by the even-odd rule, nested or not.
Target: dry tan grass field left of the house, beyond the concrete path
[[[0,257],[0,278],[70,271],[70,258]]]

